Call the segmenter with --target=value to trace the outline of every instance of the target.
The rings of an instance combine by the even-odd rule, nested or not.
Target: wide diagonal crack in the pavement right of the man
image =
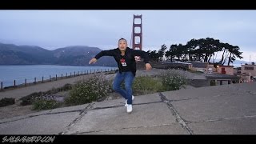
[[[190,129],[189,126],[186,125],[185,120],[179,116],[178,111],[174,108],[174,106],[170,103],[171,101],[169,101],[165,95],[163,95],[162,93],[159,93],[159,96],[162,100],[162,102],[165,102],[166,105],[168,106],[168,108],[170,108],[170,110],[172,111],[172,113],[174,114],[176,121],[182,125],[182,127],[189,133],[189,134],[194,134],[193,130]]]

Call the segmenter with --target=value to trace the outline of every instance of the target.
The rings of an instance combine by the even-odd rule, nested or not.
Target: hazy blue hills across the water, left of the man
[[[0,43],[0,65],[89,66],[90,59],[100,51],[102,50],[90,46],[67,46],[46,50],[39,46]],[[102,57],[94,66],[117,66],[117,64],[112,57]]]

